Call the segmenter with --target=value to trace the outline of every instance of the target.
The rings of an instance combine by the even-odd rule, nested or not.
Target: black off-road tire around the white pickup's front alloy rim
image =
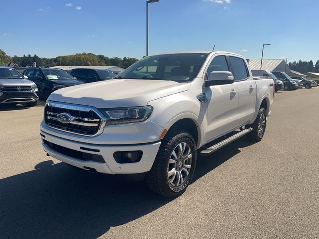
[[[182,142],[187,143],[191,150],[191,168],[187,180],[176,188],[169,180],[167,169],[173,150]],[[145,176],[146,183],[152,191],[164,197],[171,198],[179,196],[185,192],[192,180],[196,168],[196,161],[196,143],[191,134],[184,130],[172,129],[164,137],[153,166]]]

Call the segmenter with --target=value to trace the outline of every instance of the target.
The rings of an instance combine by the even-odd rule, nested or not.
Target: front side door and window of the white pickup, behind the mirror
[[[217,55],[211,60],[206,69],[206,79],[212,71],[230,71],[225,55]],[[206,142],[209,142],[238,126],[238,88],[237,83],[207,88]]]

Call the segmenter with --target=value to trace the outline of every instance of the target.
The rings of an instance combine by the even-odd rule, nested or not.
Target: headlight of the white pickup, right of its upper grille
[[[122,123],[136,123],[147,120],[152,111],[152,106],[130,107],[130,108],[113,108],[100,109],[106,116],[106,125],[122,124]]]

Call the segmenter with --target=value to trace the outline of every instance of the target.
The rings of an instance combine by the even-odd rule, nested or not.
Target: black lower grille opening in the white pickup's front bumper
[[[69,148],[65,148],[63,146],[57,145],[55,143],[51,143],[49,141],[46,141],[44,139],[43,143],[45,145],[47,145],[50,149],[64,154],[66,156],[72,157],[72,158],[76,158],[82,161],[94,161],[94,162],[98,162],[98,163],[105,163],[102,155],[98,155],[98,154],[92,154],[92,153],[84,153],[84,152],[80,152],[77,150],[73,150],[73,149],[69,149]]]

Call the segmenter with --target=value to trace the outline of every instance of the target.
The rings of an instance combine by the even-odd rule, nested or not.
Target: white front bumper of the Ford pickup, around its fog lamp
[[[84,161],[71,156],[67,156],[61,152],[51,149],[42,141],[42,147],[50,156],[62,162],[73,165],[85,170],[95,169],[97,172],[105,174],[135,174],[150,171],[155,157],[160,148],[161,142],[153,142],[146,144],[135,145],[102,145],[102,144],[88,144],[67,140],[40,130],[42,140],[50,143],[63,146],[67,149],[76,150],[86,154],[97,154],[103,157],[105,162]],[[89,150],[86,150],[89,149]],[[94,151],[92,151],[94,150]],[[118,151],[137,151],[143,152],[142,158],[135,163],[117,163],[113,154]]]

